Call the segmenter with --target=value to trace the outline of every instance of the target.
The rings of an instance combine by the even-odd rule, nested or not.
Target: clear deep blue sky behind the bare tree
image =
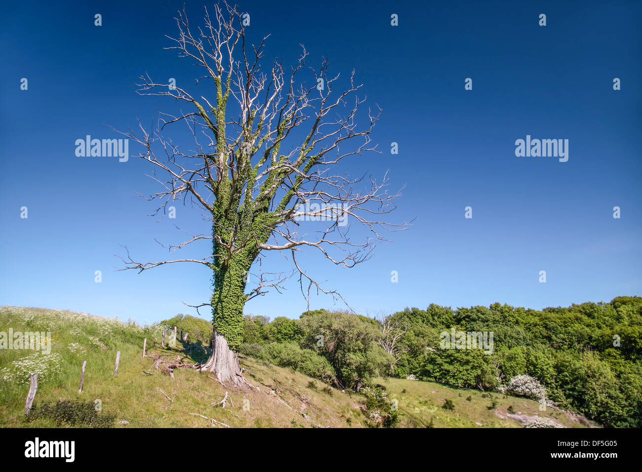
[[[177,220],[157,222],[147,216],[153,203],[136,197],[157,189],[144,161],[74,153],[85,135],[121,137],[106,125],[125,130],[136,118],[151,124],[157,108],[171,110],[168,101],[135,93],[141,74],[193,83],[189,61],[163,49],[180,6],[3,6],[0,304],[152,322],[195,314],[182,302],[209,299],[211,274],[200,265],[114,271],[123,267],[114,257],[123,254],[119,244],[137,259],[171,257],[154,238],[182,241],[173,223],[207,231],[198,211],[179,206]],[[187,2],[191,22],[202,7]],[[413,226],[356,268],[305,259],[356,311],[496,301],[541,309],[642,294],[641,3],[252,0],[239,7],[250,13],[255,39],[272,34],[266,66],[276,56],[293,64],[302,43],[310,65],[327,56],[333,73],[354,68],[367,103],[383,107],[372,134],[383,153],[343,169],[377,178],[389,169],[392,187],[406,186],[393,220],[416,218]],[[390,25],[392,13],[399,26]],[[568,162],[516,157],[515,141],[526,135],[568,139]],[[398,155],[390,154],[393,141]],[[130,154],[137,152],[130,143]],[[466,206],[472,219],[464,218]],[[266,262],[271,272],[286,267],[272,255]],[[96,270],[102,283],[94,283]],[[297,283],[286,288],[250,301],[246,313],[298,317],[306,302]],[[331,299],[313,297],[311,307],[331,308]]]

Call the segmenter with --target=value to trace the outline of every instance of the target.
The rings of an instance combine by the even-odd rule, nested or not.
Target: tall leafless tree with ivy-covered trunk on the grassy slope
[[[244,381],[236,351],[248,300],[265,295],[268,288],[279,290],[294,275],[308,306],[313,291],[345,302],[340,293],[323,288],[306,272],[303,249],[336,265],[354,267],[385,240],[384,231],[404,229],[408,223],[384,221],[399,195],[388,192],[386,176],[377,183],[372,177],[352,179],[338,173],[344,159],[376,148],[370,133],[381,110],[377,107],[373,114],[360,109],[365,99],[357,96],[361,85],[354,82],[354,71],[341,82],[338,74],[328,74],[327,60],[318,69],[308,67],[303,46],[290,71],[280,60],[264,71],[267,37],[250,46],[241,15],[227,3],[214,7],[214,19],[206,8],[201,28],[188,23],[184,10],[176,20],[178,36],[166,49],[176,49],[195,63],[202,76],[194,87],[141,77],[139,94],[166,97],[178,103],[177,110],[160,112],[154,130],[139,122],[138,131],[123,134],[143,146],[140,157],[164,175],[153,173],[160,189],[144,197],[159,200],[153,214],[164,215],[169,205],[182,201],[199,207],[207,221],[200,232],[180,229],[188,236],[184,242],[161,245],[176,252],[209,242],[211,249],[200,259],[139,262],[125,247],[121,270],[143,272],[183,262],[213,270],[209,302],[188,305],[196,310],[211,306],[213,313],[211,355],[200,369],[240,385]],[[207,87],[214,96],[204,96]],[[193,143],[178,146],[167,137],[177,126]],[[361,225],[366,230],[363,240],[349,238],[348,229],[354,232]],[[310,226],[316,231],[308,232]],[[261,256],[270,251],[291,257],[291,272],[250,273],[252,268],[260,270]]]

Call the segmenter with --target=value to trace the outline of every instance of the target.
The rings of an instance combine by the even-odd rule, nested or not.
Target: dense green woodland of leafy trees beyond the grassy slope
[[[192,342],[210,342],[205,320],[178,315],[164,324],[190,332]],[[491,348],[444,343],[455,332],[492,333]],[[240,352],[341,389],[395,376],[507,391],[517,376],[530,376],[545,387],[548,405],[607,427],[642,426],[642,297],[541,311],[431,304],[379,319],[327,310],[271,322],[247,315]]]

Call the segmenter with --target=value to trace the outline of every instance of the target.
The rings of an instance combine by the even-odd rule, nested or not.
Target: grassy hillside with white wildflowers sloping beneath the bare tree
[[[160,347],[158,325],[141,328],[117,319],[69,311],[0,308],[0,331],[51,331],[51,353],[0,349],[0,426],[56,426],[50,419],[24,420],[28,372],[39,372],[36,402],[100,400],[103,413],[116,415],[117,427],[361,427],[363,396],[342,392],[290,369],[241,356],[244,375],[255,389],[223,386],[207,372],[179,368],[173,378],[153,363],[202,360],[201,347],[178,343]],[[142,358],[143,339],[148,354]],[[116,352],[121,351],[117,375]],[[80,368],[87,361],[82,394]],[[150,374],[146,374],[150,372]],[[496,392],[455,389],[424,381],[380,379],[396,399],[401,427],[521,427],[528,417],[547,417],[566,427],[587,427],[584,417],[547,408],[536,401]],[[214,406],[229,393],[225,408]],[[454,409],[442,408],[444,401]],[[492,402],[496,402],[494,408]],[[512,408],[510,408],[512,407]],[[211,421],[214,419],[216,421]],[[124,423],[126,422],[126,423]],[[119,424],[123,423],[123,424]]]

